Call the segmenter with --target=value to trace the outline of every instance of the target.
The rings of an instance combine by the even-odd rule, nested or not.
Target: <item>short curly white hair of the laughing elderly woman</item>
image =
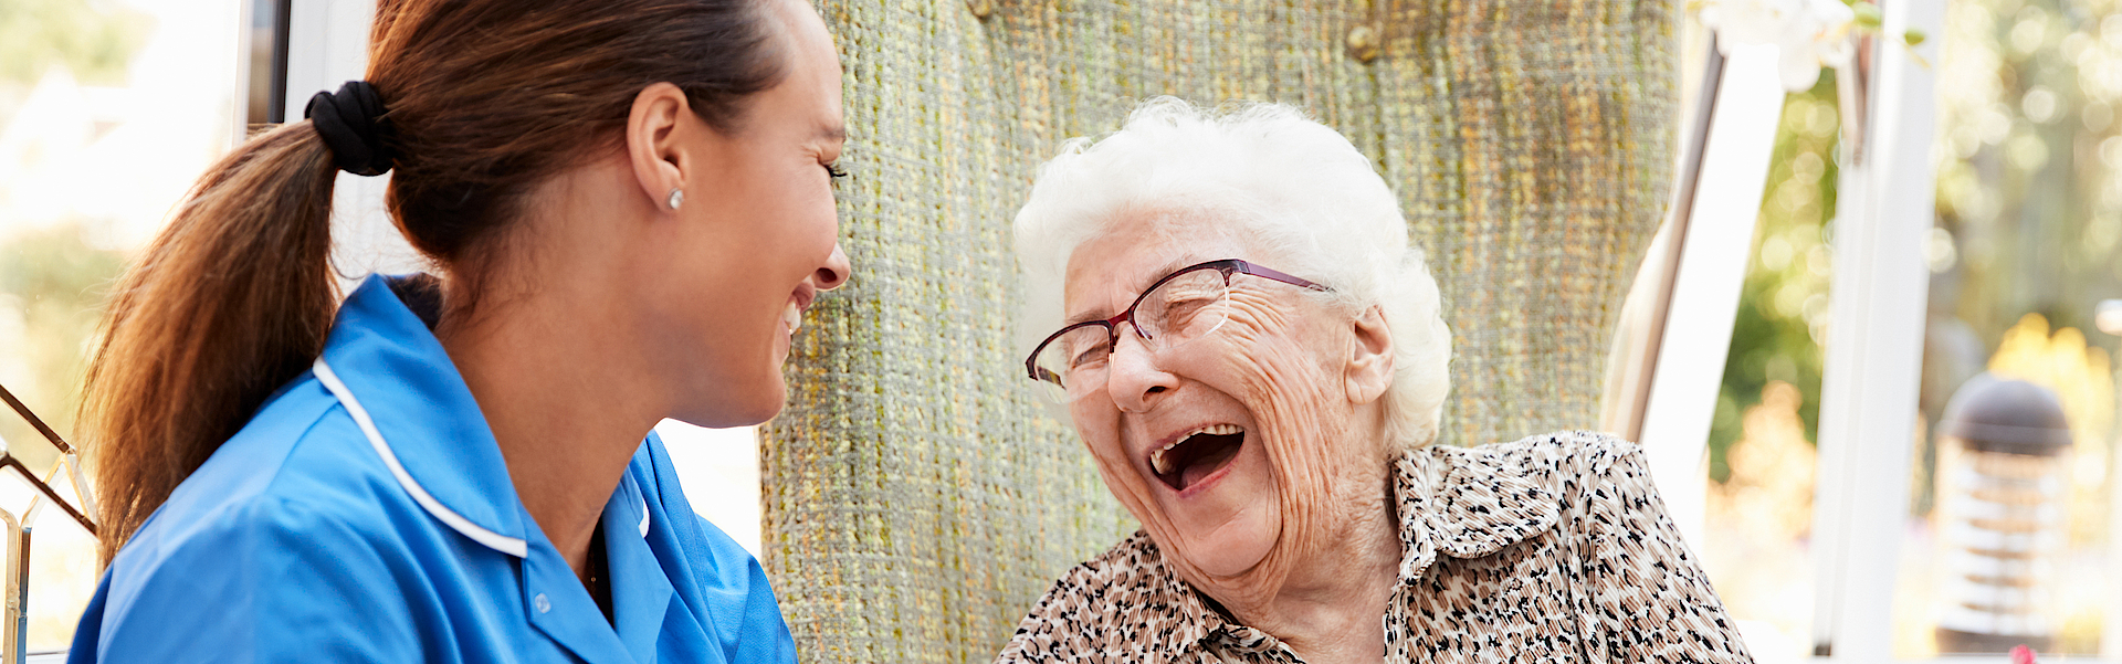
[[[1156,98],[1103,140],[1069,140],[1016,212],[1023,348],[1061,327],[1076,246],[1131,210],[1212,212],[1273,250],[1216,259],[1254,259],[1326,284],[1333,291],[1320,295],[1350,314],[1377,305],[1394,344],[1386,437],[1396,448],[1437,437],[1451,384],[1437,280],[1407,246],[1398,199],[1347,138],[1284,104],[1214,112]]]

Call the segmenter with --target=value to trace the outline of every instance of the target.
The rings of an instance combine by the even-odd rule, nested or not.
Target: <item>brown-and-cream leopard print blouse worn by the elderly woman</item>
[[[1394,462],[1386,662],[1753,662],[1636,443],[1551,433]],[[997,662],[1303,662],[1135,532],[1069,569]]]

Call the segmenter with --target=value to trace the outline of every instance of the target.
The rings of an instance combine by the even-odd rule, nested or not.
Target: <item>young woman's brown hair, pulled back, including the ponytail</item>
[[[717,132],[743,129],[745,98],[783,76],[764,2],[378,2],[367,83],[390,127],[393,221],[452,293],[480,293],[526,195],[622,148],[643,87],[673,83]],[[81,405],[106,564],[323,352],[337,176],[310,121],[274,127],[214,163],[119,278]]]

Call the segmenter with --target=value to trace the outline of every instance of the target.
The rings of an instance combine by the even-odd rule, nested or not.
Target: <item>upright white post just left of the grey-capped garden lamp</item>
[[[1882,2],[1861,163],[1842,165],[1833,297],[1821,386],[1814,494],[1814,645],[1833,660],[1893,658],[1893,588],[1908,524],[1910,452],[1935,216],[1931,140],[1937,42],[1901,45],[1908,28],[1944,34],[1944,0]]]

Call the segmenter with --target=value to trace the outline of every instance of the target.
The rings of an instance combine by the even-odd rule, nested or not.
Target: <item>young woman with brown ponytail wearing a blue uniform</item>
[[[384,0],[367,81],[214,165],[119,282],[72,662],[794,662],[662,418],[781,409],[840,286],[840,66],[802,0]],[[433,276],[335,297],[393,172]]]

